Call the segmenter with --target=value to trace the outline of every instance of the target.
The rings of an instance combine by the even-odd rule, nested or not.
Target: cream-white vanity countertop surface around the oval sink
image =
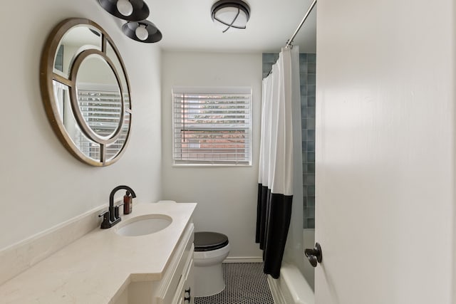
[[[196,204],[135,204],[126,221],[166,214],[172,223],[145,236],[95,229],[0,285],[1,303],[113,303],[132,281],[160,280]]]

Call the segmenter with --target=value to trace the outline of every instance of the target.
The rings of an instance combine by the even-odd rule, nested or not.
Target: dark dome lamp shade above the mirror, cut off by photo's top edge
[[[149,16],[149,7],[142,0],[98,0],[109,14],[123,20],[140,21]]]

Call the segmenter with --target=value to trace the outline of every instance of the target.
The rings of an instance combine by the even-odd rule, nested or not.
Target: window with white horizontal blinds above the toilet
[[[174,88],[174,163],[249,165],[251,95],[250,88]]]

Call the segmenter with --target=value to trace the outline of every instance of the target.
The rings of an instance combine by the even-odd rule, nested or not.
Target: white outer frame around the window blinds
[[[236,161],[227,163],[217,163],[216,161],[207,162],[195,162],[188,160],[187,162],[176,162],[175,149],[176,149],[176,138],[175,138],[175,94],[248,94],[249,95],[249,123],[247,124],[247,134],[249,137],[248,159],[242,163]],[[252,167],[252,151],[253,151],[253,138],[252,138],[252,120],[253,120],[253,109],[252,109],[252,87],[247,86],[229,86],[229,87],[183,87],[173,86],[171,91],[172,99],[172,167]]]

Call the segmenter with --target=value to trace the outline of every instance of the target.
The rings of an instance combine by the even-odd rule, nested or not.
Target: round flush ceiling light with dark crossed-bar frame
[[[229,28],[246,28],[250,18],[250,7],[241,0],[219,0],[211,12],[212,21],[223,28],[223,32]]]

